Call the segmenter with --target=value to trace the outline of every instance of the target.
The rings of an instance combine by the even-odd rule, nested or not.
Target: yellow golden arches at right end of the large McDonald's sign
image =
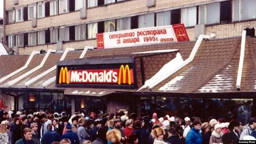
[[[127,74],[127,77],[126,77],[126,74]],[[125,65],[125,67],[124,67],[124,65],[121,65],[121,67],[119,69],[118,84],[121,84],[121,80],[123,80],[124,84],[125,83],[128,83],[128,84],[134,83],[133,71],[132,71],[132,69],[130,70],[128,65]]]

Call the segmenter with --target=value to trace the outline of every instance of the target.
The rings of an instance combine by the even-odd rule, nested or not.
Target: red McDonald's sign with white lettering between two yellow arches
[[[133,69],[120,65],[113,69],[68,70],[60,68],[58,84],[134,84]]]

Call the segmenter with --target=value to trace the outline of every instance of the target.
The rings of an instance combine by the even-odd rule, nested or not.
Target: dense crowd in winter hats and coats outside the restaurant
[[[201,122],[198,117],[135,113],[63,113],[0,111],[0,144],[236,144],[256,140],[256,117]]]

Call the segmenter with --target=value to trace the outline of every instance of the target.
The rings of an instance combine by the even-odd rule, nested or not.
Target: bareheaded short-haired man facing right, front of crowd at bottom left
[[[28,127],[23,130],[23,134],[22,138],[16,141],[15,144],[38,144],[36,141],[32,140],[32,130]]]

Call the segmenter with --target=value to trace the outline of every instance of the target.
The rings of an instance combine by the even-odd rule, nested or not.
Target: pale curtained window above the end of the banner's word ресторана
[[[156,13],[156,26],[168,26],[171,24],[171,12]]]

